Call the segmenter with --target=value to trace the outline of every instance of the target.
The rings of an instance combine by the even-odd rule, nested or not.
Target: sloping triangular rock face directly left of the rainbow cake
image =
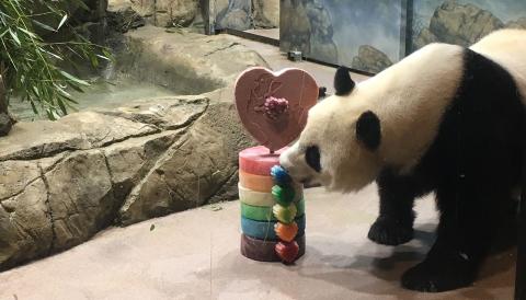
[[[243,130],[233,103],[210,103],[134,187],[119,221],[134,223],[235,197],[237,153],[252,145],[240,135]]]

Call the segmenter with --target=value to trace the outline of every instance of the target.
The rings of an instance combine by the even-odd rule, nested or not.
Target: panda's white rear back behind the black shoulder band
[[[526,31],[501,30],[470,47],[506,69],[526,97]],[[524,100],[526,102],[526,99]]]

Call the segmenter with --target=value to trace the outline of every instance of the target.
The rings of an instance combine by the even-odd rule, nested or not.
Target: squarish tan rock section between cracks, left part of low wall
[[[73,152],[45,174],[54,251],[88,240],[113,221],[118,200],[104,154],[100,150]]]

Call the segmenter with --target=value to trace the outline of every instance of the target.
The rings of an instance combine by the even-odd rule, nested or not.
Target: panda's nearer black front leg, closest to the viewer
[[[426,258],[402,276],[408,289],[438,292],[472,284],[490,245],[491,192],[459,195],[438,189],[436,196],[437,238]]]

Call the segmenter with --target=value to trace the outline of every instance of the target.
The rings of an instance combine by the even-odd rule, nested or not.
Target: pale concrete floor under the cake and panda
[[[512,299],[515,252],[492,256],[473,287],[430,295],[399,277],[433,240],[431,198],[418,203],[416,239],[398,247],[366,239],[376,187],[355,195],[306,191],[307,253],[295,266],[239,253],[239,201],[128,228],[0,274],[0,299]]]

